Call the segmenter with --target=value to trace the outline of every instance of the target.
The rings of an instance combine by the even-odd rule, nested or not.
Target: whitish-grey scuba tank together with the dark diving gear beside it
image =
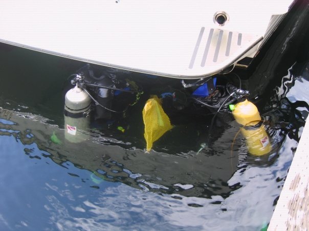
[[[86,64],[69,78],[75,87],[65,94],[65,139],[75,143],[89,137],[83,131],[90,129],[93,120],[107,122],[112,113],[123,116],[143,94],[127,72],[113,68],[98,69]]]

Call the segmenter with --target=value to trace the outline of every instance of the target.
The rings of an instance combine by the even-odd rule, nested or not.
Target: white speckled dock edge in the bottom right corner
[[[268,231],[309,230],[309,124],[303,129]]]

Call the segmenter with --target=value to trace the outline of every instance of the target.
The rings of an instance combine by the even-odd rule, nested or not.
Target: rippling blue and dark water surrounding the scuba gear
[[[145,153],[141,111],[125,133],[63,135],[63,89],[81,62],[0,46],[0,230],[260,230],[272,216],[308,115],[308,61],[284,67],[259,108],[273,151],[248,153],[238,125],[175,116]],[[282,80],[281,80],[282,79]],[[173,85],[176,80],[168,80]],[[150,92],[150,91],[149,91]],[[149,93],[148,92],[148,93]],[[56,134],[61,144],[51,141]]]

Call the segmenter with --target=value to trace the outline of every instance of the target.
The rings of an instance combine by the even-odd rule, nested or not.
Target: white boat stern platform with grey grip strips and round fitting
[[[287,12],[292,2],[2,0],[0,42],[89,63],[194,79],[254,53],[272,15]],[[223,11],[228,21],[219,25],[214,16]]]

